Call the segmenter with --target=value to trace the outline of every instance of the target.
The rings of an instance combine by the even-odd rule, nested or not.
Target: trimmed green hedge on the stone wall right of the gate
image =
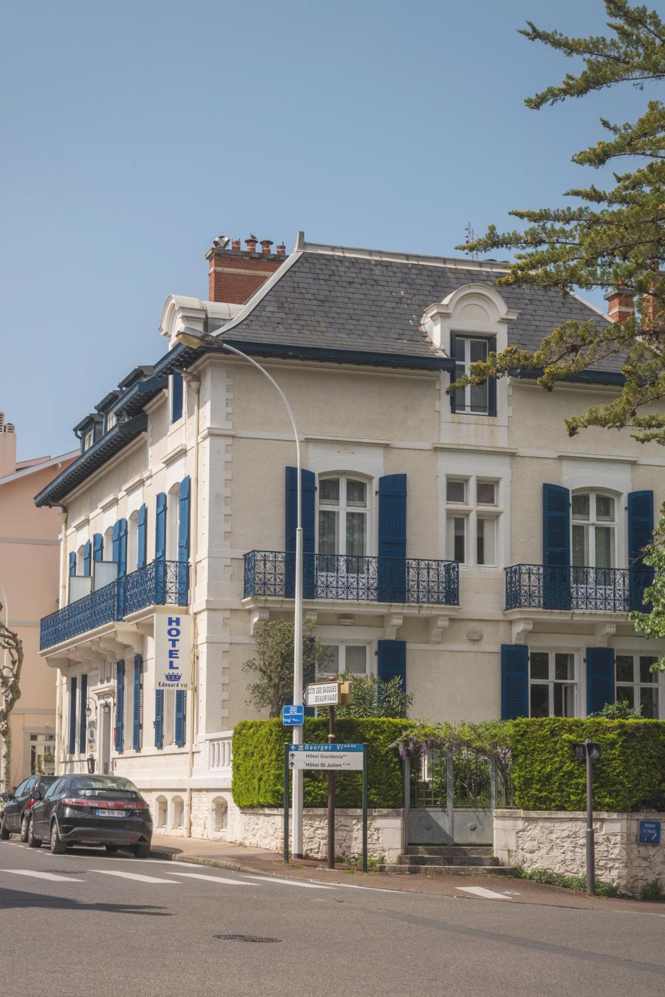
[[[593,765],[596,811],[665,809],[665,722],[660,720],[514,720],[515,803],[522,810],[586,809],[585,766],[570,740],[602,746]]]

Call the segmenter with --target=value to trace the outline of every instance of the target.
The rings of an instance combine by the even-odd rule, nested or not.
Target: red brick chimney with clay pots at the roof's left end
[[[271,239],[261,239],[261,251],[257,252],[258,242],[255,235],[250,235],[245,239],[247,249],[241,249],[240,239],[220,235],[214,240],[205,254],[210,263],[208,300],[244,304],[284,263],[286,251],[282,244],[273,253]]]

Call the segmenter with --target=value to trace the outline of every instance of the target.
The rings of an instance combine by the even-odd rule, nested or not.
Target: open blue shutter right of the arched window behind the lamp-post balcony
[[[406,475],[378,480],[379,602],[406,599]]]

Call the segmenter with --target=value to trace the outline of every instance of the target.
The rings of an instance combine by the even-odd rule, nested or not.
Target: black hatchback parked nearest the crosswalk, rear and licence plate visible
[[[68,844],[106,844],[108,851],[129,848],[137,858],[147,858],[152,819],[147,803],[128,779],[62,776],[30,812],[28,844],[38,848],[44,838],[56,855]]]

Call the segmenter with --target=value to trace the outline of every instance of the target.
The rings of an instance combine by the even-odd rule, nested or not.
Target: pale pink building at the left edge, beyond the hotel
[[[21,698],[10,718],[13,786],[54,766],[56,683],[39,656],[39,626],[59,605],[60,515],[36,508],[33,496],[75,456],[17,462],[14,424],[0,412],[0,602],[24,653]]]

